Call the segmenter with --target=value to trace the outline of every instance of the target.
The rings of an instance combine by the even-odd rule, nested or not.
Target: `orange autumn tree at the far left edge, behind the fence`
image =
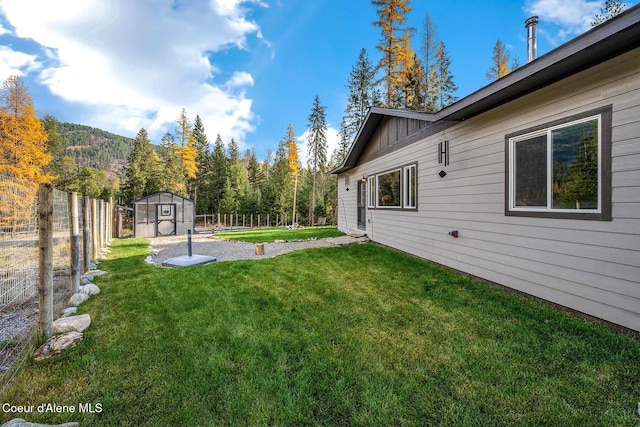
[[[20,77],[9,77],[0,92],[0,175],[49,181],[52,177],[44,171],[51,161],[47,139],[27,87]]]

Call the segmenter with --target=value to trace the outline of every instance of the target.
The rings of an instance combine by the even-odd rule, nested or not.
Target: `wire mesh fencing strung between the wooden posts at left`
[[[75,238],[74,243],[79,240],[90,249],[98,238],[102,244],[110,240],[107,238],[108,230],[111,230],[110,204],[87,203],[87,207],[95,206],[96,210],[96,227],[92,227],[93,212],[89,211],[84,219],[85,204],[82,202],[74,204],[75,209],[71,212],[70,194],[54,189],[51,229],[47,231],[51,235],[51,245],[47,249],[52,252],[53,262],[51,271],[41,271],[37,195],[36,185],[0,176],[0,396],[33,350],[41,310],[38,301],[40,278],[43,275],[53,278],[51,291],[58,310],[64,308],[74,290],[71,218],[77,221],[76,231],[96,230],[80,239]],[[86,227],[82,226],[83,220],[88,221]],[[82,254],[95,258],[92,256],[95,252],[79,251],[80,260],[76,261],[83,271],[89,263]]]

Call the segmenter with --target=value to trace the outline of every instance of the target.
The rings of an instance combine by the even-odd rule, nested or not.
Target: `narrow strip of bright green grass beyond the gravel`
[[[336,226],[305,227],[298,230],[289,230],[285,227],[258,228],[247,231],[226,231],[216,233],[216,237],[227,240],[241,240],[250,243],[267,243],[276,240],[303,240],[326,237],[344,236]]]

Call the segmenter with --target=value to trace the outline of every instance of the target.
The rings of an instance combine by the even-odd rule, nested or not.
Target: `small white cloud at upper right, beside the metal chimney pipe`
[[[539,16],[539,33],[550,43],[558,45],[591,28],[590,23],[600,12],[603,3],[601,0],[531,0],[525,10],[528,14]],[[551,32],[545,29],[546,24],[559,28]]]

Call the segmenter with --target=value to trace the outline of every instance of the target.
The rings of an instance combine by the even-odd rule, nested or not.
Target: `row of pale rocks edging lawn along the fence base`
[[[77,306],[87,301],[92,295],[98,295],[100,288],[91,283],[95,276],[103,276],[107,274],[102,270],[90,270],[82,275],[84,285],[80,286],[80,292],[77,292],[69,299],[68,307],[63,310],[61,318],[53,322],[53,336],[42,344],[34,352],[33,358],[36,361],[48,359],[51,356],[62,353],[68,348],[74,347],[82,341],[83,332],[91,325],[91,316],[81,314],[73,316],[77,311]]]

